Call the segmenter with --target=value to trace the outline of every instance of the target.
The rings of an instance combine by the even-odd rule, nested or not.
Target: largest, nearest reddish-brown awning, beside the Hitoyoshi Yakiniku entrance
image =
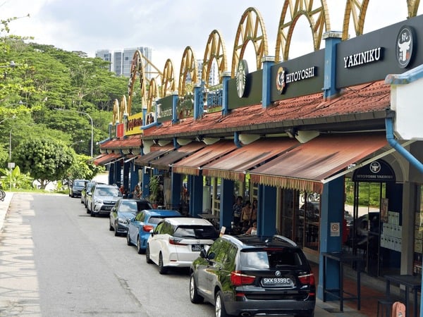
[[[320,136],[251,170],[251,181],[321,193],[326,178],[387,144],[382,134]]]

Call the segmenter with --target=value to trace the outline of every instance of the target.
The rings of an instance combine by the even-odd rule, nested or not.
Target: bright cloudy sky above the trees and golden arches
[[[10,23],[10,34],[30,36],[33,42],[66,51],[95,51],[149,46],[159,70],[168,58],[178,70],[183,51],[190,46],[195,58],[204,58],[213,30],[223,37],[231,70],[233,42],[240,19],[254,7],[264,20],[269,55],[275,55],[276,35],[284,0],[0,0],[0,19],[22,17]],[[341,31],[346,0],[326,0],[331,30]],[[362,1],[360,1],[362,2]],[[314,6],[320,1],[314,0]],[[420,6],[423,12],[423,5]],[[25,17],[29,14],[30,17]],[[364,33],[407,18],[406,0],[369,0]],[[350,37],[355,36],[350,26]],[[324,48],[324,42],[321,49]],[[298,20],[290,58],[312,52],[312,33],[305,18]],[[254,52],[247,45],[246,56]],[[251,58],[251,57],[250,57]],[[249,61],[249,58],[245,58]],[[250,63],[248,64],[250,66]],[[178,72],[177,72],[178,73]]]

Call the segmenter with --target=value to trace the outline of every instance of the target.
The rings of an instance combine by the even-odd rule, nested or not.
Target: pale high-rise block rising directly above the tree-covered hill
[[[109,50],[99,50],[96,51],[95,56],[102,58],[104,61],[111,61],[110,70],[116,73],[118,76],[130,76],[130,66],[132,65],[133,57],[135,51],[140,51],[140,53],[145,56],[150,62],[152,61],[152,48],[150,47],[136,47],[133,49],[123,49],[123,51],[114,51],[111,54]],[[111,57],[113,56],[113,61]],[[152,76],[152,66],[149,63],[142,61],[145,66],[145,77],[149,80]]]

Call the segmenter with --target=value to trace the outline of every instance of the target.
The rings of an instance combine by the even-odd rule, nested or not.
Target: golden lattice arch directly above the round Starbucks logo
[[[245,48],[249,41],[255,48],[257,70],[262,69],[262,57],[269,54],[267,35],[261,13],[252,7],[245,10],[236,30],[231,77],[235,77],[236,68],[240,59],[244,57]]]

